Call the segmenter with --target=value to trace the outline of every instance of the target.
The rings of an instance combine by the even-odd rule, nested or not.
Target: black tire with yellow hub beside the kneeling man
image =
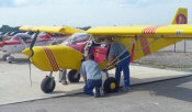
[[[104,81],[104,91],[108,93],[117,92],[118,83],[114,77],[110,77]]]

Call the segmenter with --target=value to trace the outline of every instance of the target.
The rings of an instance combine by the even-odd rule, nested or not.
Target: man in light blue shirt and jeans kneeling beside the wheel
[[[84,92],[93,97],[104,96],[101,91],[102,76],[100,66],[94,61],[93,55],[88,55],[81,65],[80,74],[86,82]]]

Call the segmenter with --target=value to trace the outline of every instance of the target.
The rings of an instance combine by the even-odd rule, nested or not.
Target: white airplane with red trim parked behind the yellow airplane
[[[11,54],[21,53],[24,48],[29,47],[34,36],[26,33],[18,33],[8,41],[1,42],[0,51],[3,53],[2,59],[12,63],[14,57]],[[56,41],[53,41],[48,34],[41,32],[35,46],[52,45],[53,43],[55,44]]]

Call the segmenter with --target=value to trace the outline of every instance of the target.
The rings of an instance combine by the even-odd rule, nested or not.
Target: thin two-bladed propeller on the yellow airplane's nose
[[[31,87],[32,87],[32,70],[31,70],[31,61],[30,61],[30,57],[32,57],[34,55],[34,51],[33,51],[33,46],[35,45],[36,38],[39,34],[39,31],[36,32],[34,38],[32,40],[32,43],[30,45],[30,51],[32,52],[31,56],[29,56],[29,68],[30,68],[30,82],[31,82]]]

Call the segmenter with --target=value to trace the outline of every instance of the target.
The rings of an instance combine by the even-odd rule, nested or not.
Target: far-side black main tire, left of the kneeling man
[[[78,72],[78,74],[77,74]],[[79,74],[79,71],[78,70],[70,70],[69,72],[68,72],[68,80],[70,81],[70,82],[79,82],[79,80],[80,80],[80,74]]]

